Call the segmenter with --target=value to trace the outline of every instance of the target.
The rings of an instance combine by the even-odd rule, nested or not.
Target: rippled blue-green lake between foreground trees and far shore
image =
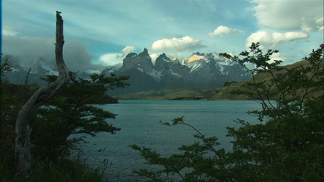
[[[195,130],[185,125],[164,126],[159,121],[170,122],[184,116],[184,121],[207,137],[216,136],[219,148],[231,149],[226,126],[238,127],[237,118],[258,123],[257,117],[247,114],[249,110],[261,110],[256,101],[144,101],[120,100],[120,104],[96,105],[115,114],[108,123],[121,130],[112,135],[98,133],[95,138],[87,135],[82,148],[91,164],[103,160],[111,162],[107,175],[112,181],[145,181],[132,173],[132,169],[149,168],[138,151],[129,147],[136,144],[156,150],[162,156],[179,153],[183,144],[192,144]],[[154,167],[154,166],[152,166]]]

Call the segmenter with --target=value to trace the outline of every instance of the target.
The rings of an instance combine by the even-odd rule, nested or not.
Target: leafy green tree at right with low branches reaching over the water
[[[249,111],[260,123],[238,119],[240,127],[227,127],[233,137],[231,151],[215,150],[220,145],[216,136],[207,138],[197,131],[200,142],[183,145],[181,154],[161,157],[156,151],[132,145],[146,159],[148,165],[160,170],[140,169],[135,173],[148,181],[322,181],[323,149],[323,47],[313,50],[305,66],[280,67],[282,61],[271,61],[276,50],[266,53],[259,43],[252,43],[250,51],[238,56],[220,54],[247,68],[252,79],[232,94],[255,98],[262,110]],[[255,67],[250,69],[247,63]],[[258,79],[265,73],[269,80]],[[313,96],[321,90],[320,96]],[[274,98],[274,100],[272,100]],[[183,117],[167,126],[184,124]]]

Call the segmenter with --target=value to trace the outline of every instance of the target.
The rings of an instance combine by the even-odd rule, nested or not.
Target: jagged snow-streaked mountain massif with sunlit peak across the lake
[[[114,96],[157,89],[203,90],[221,87],[226,81],[251,78],[244,67],[216,53],[193,53],[188,63],[184,64],[180,64],[177,58],[171,60],[163,53],[156,58],[153,66],[146,48],[140,54],[128,54],[123,66],[114,73],[131,76],[129,87],[109,92]]]

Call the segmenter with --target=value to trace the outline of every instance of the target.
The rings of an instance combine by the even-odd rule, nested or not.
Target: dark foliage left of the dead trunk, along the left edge
[[[12,71],[12,65],[8,59],[2,60],[1,65],[2,76],[8,71]],[[12,84],[3,77],[0,80],[0,166],[2,177],[15,175],[15,122],[17,114],[38,88],[37,84],[28,83],[28,76],[23,84]]]

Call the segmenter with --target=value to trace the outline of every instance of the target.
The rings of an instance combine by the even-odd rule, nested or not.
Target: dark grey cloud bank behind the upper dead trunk
[[[5,55],[20,57],[20,64],[30,66],[33,58],[44,57],[55,61],[55,38],[30,38],[10,35],[2,36],[2,52]],[[92,64],[91,56],[84,44],[75,39],[66,39],[63,47],[63,58],[71,71],[102,70],[102,64]]]

